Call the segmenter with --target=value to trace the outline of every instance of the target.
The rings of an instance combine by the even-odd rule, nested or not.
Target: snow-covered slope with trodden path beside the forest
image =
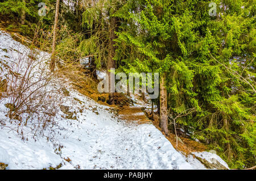
[[[7,50],[7,51],[6,51]],[[10,65],[15,58],[28,49],[0,31],[0,60]],[[39,53],[38,60],[49,58],[46,52]],[[44,64],[46,65],[46,64]],[[1,77],[8,74],[1,65]],[[56,124],[46,128],[44,136],[34,136],[30,128],[22,127],[25,138],[16,132],[15,121],[6,116],[8,108],[4,98],[0,102],[0,162],[7,169],[196,169],[178,153],[163,134],[152,124],[135,125],[118,119],[113,108],[102,106],[73,90],[63,80],[55,78],[48,87],[65,88],[58,96]],[[53,99],[53,98],[52,98]],[[65,107],[67,106],[67,107]],[[65,107],[73,113],[67,119]],[[31,123],[33,120],[30,120]]]

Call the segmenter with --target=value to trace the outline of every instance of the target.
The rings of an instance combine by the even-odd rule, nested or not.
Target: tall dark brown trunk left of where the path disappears
[[[114,92],[110,92],[110,87],[113,86],[113,84],[115,83],[114,80],[111,82],[110,81],[110,75],[113,74],[110,72],[110,69],[115,69],[115,61],[113,60],[114,57],[114,53],[115,53],[115,48],[114,48],[114,44],[115,42],[113,41],[114,39],[116,39],[115,36],[115,29],[116,29],[116,24],[117,24],[117,20],[115,17],[110,17],[110,43],[109,43],[109,50],[108,50],[108,65],[107,65],[107,74],[108,74],[108,78],[109,78],[109,101],[108,103],[110,105],[114,104]]]

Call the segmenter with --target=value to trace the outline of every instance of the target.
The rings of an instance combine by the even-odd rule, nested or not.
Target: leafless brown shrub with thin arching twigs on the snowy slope
[[[9,108],[7,116],[11,123],[17,123],[17,132],[22,136],[23,127],[31,128],[36,135],[55,124],[58,92],[52,86],[55,75],[48,70],[43,55],[36,49],[24,49],[10,58],[5,106]]]

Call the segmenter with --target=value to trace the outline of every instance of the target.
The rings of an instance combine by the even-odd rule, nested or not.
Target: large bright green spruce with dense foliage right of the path
[[[115,13],[125,22],[115,58],[127,71],[159,72],[168,117],[184,112],[178,127],[209,144],[231,167],[247,167],[256,151],[255,5],[216,1],[211,16],[210,2],[127,1]]]

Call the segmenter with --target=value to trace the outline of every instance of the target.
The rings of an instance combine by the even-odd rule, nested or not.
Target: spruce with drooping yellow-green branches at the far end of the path
[[[115,11],[119,9],[122,1],[108,0],[108,1],[92,1],[88,2],[88,8],[83,13],[82,25],[90,29],[89,39],[85,39],[80,44],[80,49],[86,56],[92,56],[93,65],[97,69],[103,66],[110,82],[110,69],[116,68],[114,54],[114,39],[116,39],[115,32],[118,28],[118,18],[113,16]],[[96,69],[94,69],[96,71]],[[114,104],[113,92],[109,94],[109,104]]]

